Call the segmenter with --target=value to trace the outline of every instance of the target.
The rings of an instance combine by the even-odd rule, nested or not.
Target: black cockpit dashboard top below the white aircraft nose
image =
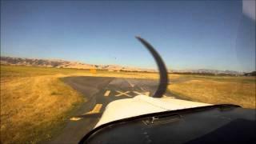
[[[111,122],[81,143],[256,143],[255,126],[255,110],[210,106]]]

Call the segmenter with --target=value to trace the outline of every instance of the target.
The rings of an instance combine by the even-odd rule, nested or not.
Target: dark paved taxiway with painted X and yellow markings
[[[151,96],[157,89],[158,81],[135,78],[67,77],[66,84],[78,90],[87,99],[62,133],[50,143],[78,143],[96,125],[100,114],[109,102],[122,98],[133,98],[138,94]],[[165,96],[174,97],[166,93]],[[87,114],[86,114],[87,113]],[[91,116],[85,116],[92,114]]]

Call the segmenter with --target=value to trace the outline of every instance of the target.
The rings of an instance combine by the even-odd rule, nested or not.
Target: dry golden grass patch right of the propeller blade
[[[255,77],[184,76],[188,81],[168,86],[183,98],[206,103],[230,103],[255,109]]]

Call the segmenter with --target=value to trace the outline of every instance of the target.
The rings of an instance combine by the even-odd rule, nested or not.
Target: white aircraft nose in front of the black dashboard
[[[102,124],[131,118],[142,114],[152,114],[167,110],[181,110],[200,106],[210,106],[202,102],[190,102],[175,98],[151,98],[146,95],[138,95],[134,98],[126,98],[110,102],[95,127]]]

